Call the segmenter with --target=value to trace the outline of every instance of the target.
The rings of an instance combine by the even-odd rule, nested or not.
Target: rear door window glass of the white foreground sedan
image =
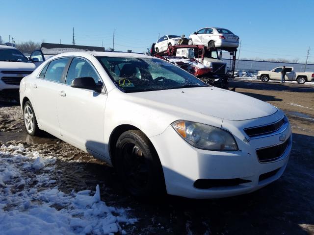
[[[69,58],[62,58],[50,62],[48,69],[45,73],[45,79],[60,82],[62,72],[65,66],[67,65],[68,61]]]

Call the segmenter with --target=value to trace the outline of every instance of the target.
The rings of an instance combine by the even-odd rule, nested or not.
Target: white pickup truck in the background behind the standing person
[[[287,81],[297,81],[299,84],[305,82],[311,82],[314,79],[314,72],[295,72],[293,67],[286,67],[287,73],[285,79]],[[257,79],[262,82],[268,82],[269,80],[281,80],[281,71],[283,67],[277,67],[272,71],[259,71]]]

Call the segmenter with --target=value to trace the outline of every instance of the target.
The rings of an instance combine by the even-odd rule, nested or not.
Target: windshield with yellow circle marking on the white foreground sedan
[[[98,57],[124,92],[146,92],[208,85],[179,67],[157,58]]]

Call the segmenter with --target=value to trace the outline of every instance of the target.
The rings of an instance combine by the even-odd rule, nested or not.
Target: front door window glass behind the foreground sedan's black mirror
[[[96,83],[100,81],[98,74],[86,60],[74,58],[69,67],[65,83],[71,85],[72,81],[78,77],[92,77]]]

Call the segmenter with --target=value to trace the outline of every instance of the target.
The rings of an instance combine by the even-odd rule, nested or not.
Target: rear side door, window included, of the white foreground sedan
[[[31,81],[32,102],[36,118],[41,128],[59,135],[57,118],[57,93],[61,77],[69,58],[59,58],[47,64],[39,75]]]

